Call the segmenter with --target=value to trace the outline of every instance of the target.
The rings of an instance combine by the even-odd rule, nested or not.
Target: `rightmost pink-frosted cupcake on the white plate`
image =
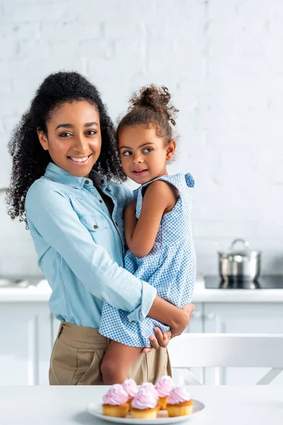
[[[183,385],[173,388],[167,397],[169,416],[185,416],[192,413],[192,399]]]

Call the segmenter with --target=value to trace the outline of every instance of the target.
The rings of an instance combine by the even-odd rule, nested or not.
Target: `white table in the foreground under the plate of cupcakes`
[[[0,387],[1,425],[106,425],[86,412],[108,387]],[[192,386],[205,409],[184,424],[282,425],[282,387]],[[126,420],[125,420],[126,423]]]

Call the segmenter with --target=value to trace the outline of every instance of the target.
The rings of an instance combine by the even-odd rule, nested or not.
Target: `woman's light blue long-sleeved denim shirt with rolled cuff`
[[[95,185],[114,203],[112,216]],[[62,322],[99,327],[103,301],[141,321],[156,289],[123,268],[123,209],[132,191],[96,171],[76,177],[50,162],[25,198],[38,265],[52,288],[50,310]]]

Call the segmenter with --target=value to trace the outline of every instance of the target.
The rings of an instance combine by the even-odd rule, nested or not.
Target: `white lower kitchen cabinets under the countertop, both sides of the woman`
[[[0,302],[0,385],[48,385],[58,329],[59,321],[50,313],[47,302]],[[283,302],[195,303],[186,331],[282,334]],[[200,381],[211,385],[253,385],[267,372],[259,368],[191,370]],[[283,385],[283,373],[274,384]]]

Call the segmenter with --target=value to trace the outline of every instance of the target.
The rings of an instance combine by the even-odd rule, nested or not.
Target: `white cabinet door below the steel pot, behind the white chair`
[[[282,334],[282,303],[205,303],[204,331],[230,334]],[[267,347],[268,349],[268,347]],[[253,385],[270,368],[206,368],[208,385]],[[271,385],[283,385],[283,372]]]

